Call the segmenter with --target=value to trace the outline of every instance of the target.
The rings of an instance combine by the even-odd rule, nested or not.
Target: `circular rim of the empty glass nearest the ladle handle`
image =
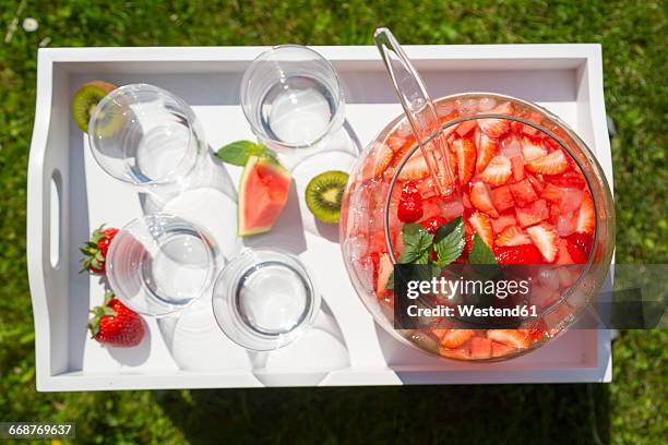
[[[247,93],[248,93],[248,86],[250,85],[250,77],[252,74],[254,74],[254,70],[257,69],[259,62],[264,61],[269,56],[271,55],[275,55],[276,52],[284,50],[284,49],[299,49],[302,51],[307,51],[312,53],[313,56],[315,56],[317,59],[323,61],[325,63],[325,65],[327,67],[327,70],[330,70],[332,72],[332,74],[334,74],[334,80],[336,81],[336,89],[337,89],[337,98],[336,98],[336,111],[334,112],[334,115],[332,116],[332,118],[330,119],[330,122],[327,122],[327,125],[323,129],[322,134],[320,134],[318,137],[313,139],[312,141],[309,142],[305,142],[305,143],[297,143],[297,144],[288,144],[286,142],[283,141],[278,141],[276,139],[273,137],[266,137],[264,136],[264,132],[258,128],[258,125],[255,125],[255,123],[253,122],[251,116],[250,116],[250,110],[248,110],[248,108],[250,108],[250,106],[248,105],[249,100],[246,99]],[[253,134],[255,136],[258,136],[261,141],[269,141],[272,144],[275,144],[282,148],[309,148],[312,147],[313,145],[322,142],[323,139],[325,139],[325,136],[327,134],[330,134],[331,132],[333,132],[334,127],[338,125],[338,124],[343,124],[343,121],[345,119],[341,119],[343,112],[344,112],[344,108],[345,108],[345,97],[344,97],[344,88],[343,88],[343,83],[341,82],[341,77],[338,76],[338,73],[336,72],[336,69],[334,68],[334,65],[332,64],[332,62],[330,62],[327,59],[325,59],[324,56],[322,56],[320,52],[315,51],[312,48],[309,48],[308,46],[305,45],[297,45],[297,44],[283,44],[283,45],[274,45],[272,47],[269,47],[266,50],[262,51],[260,55],[258,55],[246,68],[246,70],[243,71],[243,75],[241,76],[241,86],[239,88],[239,105],[241,106],[241,111],[243,112],[243,117],[246,118],[246,121],[248,122],[248,124],[251,127],[251,130],[253,131]],[[341,121],[341,122],[338,122]]]

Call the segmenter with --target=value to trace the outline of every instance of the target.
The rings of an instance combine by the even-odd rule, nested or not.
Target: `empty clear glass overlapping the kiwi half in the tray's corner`
[[[107,173],[152,191],[188,187],[208,157],[188,104],[148,84],[121,86],[100,100],[91,115],[88,142]]]

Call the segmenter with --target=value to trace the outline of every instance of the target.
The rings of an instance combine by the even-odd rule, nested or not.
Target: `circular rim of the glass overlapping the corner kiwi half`
[[[93,118],[97,117],[97,113],[103,109],[103,105],[107,105],[109,101],[116,100],[117,97],[121,96],[123,93],[126,93],[127,91],[153,91],[156,93],[160,93],[160,94],[165,94],[169,97],[171,97],[176,103],[179,104],[179,106],[183,109],[186,118],[188,120],[188,143],[187,145],[190,146],[193,142],[193,140],[195,141],[195,143],[198,143],[198,137],[195,137],[194,134],[194,129],[193,129],[193,119],[194,119],[194,113],[192,113],[192,116],[188,116],[192,112],[192,109],[190,108],[190,105],[188,105],[188,103],[186,103],[186,100],[181,99],[179,96],[177,96],[176,94],[169,92],[168,89],[162,88],[159,86],[153,85],[153,84],[148,84],[148,83],[132,83],[132,84],[127,84],[127,85],[122,85],[119,86],[116,89],[112,89],[111,92],[109,92],[105,97],[103,97],[103,99],[97,103],[97,105],[95,106],[95,109],[93,110],[93,113],[91,115],[91,119],[88,119],[88,145],[91,148],[91,152],[93,152],[93,158],[95,158],[95,161],[97,163],[97,165],[109,176],[111,176],[112,178],[129,183],[129,184],[133,184],[133,185],[141,185],[141,187],[151,187],[151,185],[163,185],[163,184],[169,184],[172,183],[175,181],[178,180],[178,178],[174,178],[172,175],[174,172],[186,163],[186,160],[189,158],[189,154],[184,153],[181,158],[179,159],[179,161],[177,163],[177,165],[175,166],[175,168],[172,170],[170,170],[167,175],[158,178],[158,179],[152,179],[151,181],[146,181],[146,182],[138,182],[138,181],[133,181],[131,178],[128,177],[128,175],[122,175],[122,176],[118,176],[111,171],[109,171],[106,167],[105,164],[102,161],[102,159],[99,158],[99,149],[97,148],[97,144],[95,142],[95,137],[93,136],[91,129],[92,129],[92,123],[93,123]],[[123,161],[123,165],[126,167],[128,167],[127,163]],[[188,169],[188,172],[190,172],[192,169],[194,168],[194,164],[193,166]],[[186,172],[186,175],[188,173]]]

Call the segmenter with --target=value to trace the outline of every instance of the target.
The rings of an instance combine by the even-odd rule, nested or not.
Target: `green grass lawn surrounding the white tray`
[[[40,45],[368,45],[379,25],[405,44],[600,43],[617,261],[666,263],[666,1],[55,3],[0,0],[0,421],[75,420],[80,442],[119,444],[665,442],[666,332],[623,332],[609,385],[37,394],[25,200]]]

